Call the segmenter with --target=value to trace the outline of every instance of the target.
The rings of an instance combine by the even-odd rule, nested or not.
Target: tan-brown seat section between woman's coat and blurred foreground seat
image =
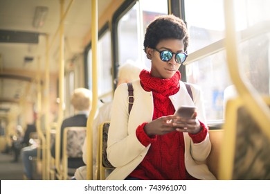
[[[207,159],[209,170],[218,178],[219,175],[219,157],[224,130],[209,130],[209,138],[212,144],[210,155]]]

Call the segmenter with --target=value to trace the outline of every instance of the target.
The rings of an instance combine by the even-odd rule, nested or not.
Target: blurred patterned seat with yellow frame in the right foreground
[[[269,96],[264,96],[263,100],[270,107]],[[269,127],[260,127],[242,98],[229,100],[226,106],[220,179],[269,180],[270,141],[267,132]]]

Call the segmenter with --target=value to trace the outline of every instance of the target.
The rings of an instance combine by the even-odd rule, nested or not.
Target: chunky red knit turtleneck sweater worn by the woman
[[[161,116],[174,114],[175,109],[169,96],[179,91],[180,73],[170,79],[153,78],[149,71],[141,71],[141,85],[145,91],[152,91],[154,96],[154,114],[152,120]],[[151,138],[145,134],[139,125],[136,130],[138,140],[145,146],[151,143],[147,155],[129,175],[139,179],[195,179],[188,174],[185,167],[185,145],[183,132],[170,132],[164,135],[155,135]],[[198,134],[189,134],[192,141],[199,143],[206,138],[207,128],[201,123],[203,130]]]

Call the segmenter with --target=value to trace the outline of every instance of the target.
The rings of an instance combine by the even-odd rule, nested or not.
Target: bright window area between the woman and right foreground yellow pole
[[[188,54],[199,49],[206,50],[206,55],[196,55],[192,59],[194,62],[186,66],[187,81],[199,85],[204,92],[207,121],[223,119],[223,91],[231,85],[226,68],[226,53],[220,51],[220,44],[215,44],[225,35],[223,1],[185,1],[185,15],[190,33]],[[209,46],[212,47],[209,49]]]

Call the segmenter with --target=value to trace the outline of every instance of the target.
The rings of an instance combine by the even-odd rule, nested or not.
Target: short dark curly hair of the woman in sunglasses
[[[155,17],[147,26],[145,40],[143,42],[144,49],[156,48],[156,45],[162,39],[183,39],[184,50],[188,48],[188,30],[186,24],[179,17],[174,15],[160,15]]]

